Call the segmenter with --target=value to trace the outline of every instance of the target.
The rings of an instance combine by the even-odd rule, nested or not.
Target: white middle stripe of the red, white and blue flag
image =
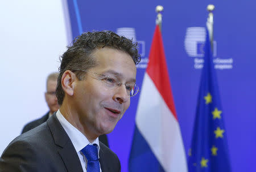
[[[135,121],[165,171],[187,171],[179,123],[147,72]]]

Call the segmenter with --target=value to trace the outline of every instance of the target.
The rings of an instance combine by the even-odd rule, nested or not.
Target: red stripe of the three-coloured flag
[[[164,55],[163,40],[158,25],[156,25],[155,28],[146,72],[177,120],[174,98],[172,97],[171,83],[166,65],[166,55]]]

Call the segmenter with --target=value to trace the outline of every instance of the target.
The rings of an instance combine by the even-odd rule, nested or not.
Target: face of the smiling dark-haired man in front
[[[77,81],[74,89],[74,106],[79,123],[92,134],[108,134],[130,106],[130,97],[124,84],[109,88],[96,75],[110,76],[121,83],[135,83],[136,66],[129,54],[102,48],[93,53],[96,67],[90,68],[85,79]]]

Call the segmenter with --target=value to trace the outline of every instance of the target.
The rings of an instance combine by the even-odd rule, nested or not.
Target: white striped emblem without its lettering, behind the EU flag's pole
[[[204,27],[189,27],[185,35],[184,46],[189,57],[204,57]],[[213,41],[213,57],[216,57],[216,41]]]

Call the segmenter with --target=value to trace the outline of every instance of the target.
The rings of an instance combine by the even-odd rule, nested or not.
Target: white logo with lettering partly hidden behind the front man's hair
[[[137,41],[135,28],[117,28],[117,35],[124,36],[138,42],[138,51],[141,54],[141,62],[137,65],[137,68],[146,68],[148,63],[148,58],[145,56],[145,41]]]

